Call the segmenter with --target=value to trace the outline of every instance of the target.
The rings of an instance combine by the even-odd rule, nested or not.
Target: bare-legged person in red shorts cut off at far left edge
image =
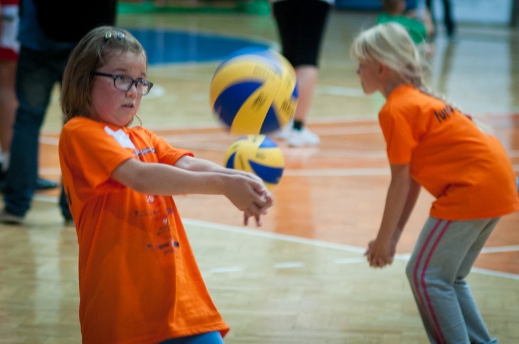
[[[20,44],[16,38],[19,0],[0,0],[0,182],[9,166],[12,124],[17,100],[15,77]]]

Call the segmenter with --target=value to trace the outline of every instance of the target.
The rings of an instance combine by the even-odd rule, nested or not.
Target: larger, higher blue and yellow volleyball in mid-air
[[[240,49],[218,66],[209,98],[213,113],[231,134],[272,133],[293,117],[298,103],[295,70],[274,50]]]

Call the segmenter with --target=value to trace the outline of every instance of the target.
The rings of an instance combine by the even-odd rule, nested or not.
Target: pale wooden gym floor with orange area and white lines
[[[332,13],[309,128],[322,143],[290,149],[260,228],[218,196],[176,198],[210,292],[231,331],[226,343],[427,343],[404,274],[432,200],[425,191],[397,260],[370,269],[363,252],[381,220],[390,179],[376,122],[383,99],[365,96],[348,48],[372,12]],[[245,37],[277,48],[268,16],[120,15],[126,28],[178,29]],[[239,32],[239,33],[237,33]],[[519,34],[460,24],[440,30],[430,60],[433,88],[477,117],[502,141],[519,174]],[[175,146],[221,162],[235,137],[216,124],[208,87],[217,62],[150,66],[156,86],[140,117]],[[60,180],[58,90],[41,138],[40,174]],[[78,247],[63,225],[57,191],[38,193],[23,226],[0,224],[0,343],[80,343]],[[519,343],[519,214],[502,218],[468,277],[500,343]]]

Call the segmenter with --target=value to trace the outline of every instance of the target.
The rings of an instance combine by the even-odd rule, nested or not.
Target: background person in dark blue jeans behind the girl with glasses
[[[19,102],[12,133],[10,166],[3,187],[5,207],[0,222],[21,224],[36,189],[39,133],[66,59],[91,28],[113,24],[116,0],[21,0],[16,75]],[[64,192],[60,208],[72,220]]]

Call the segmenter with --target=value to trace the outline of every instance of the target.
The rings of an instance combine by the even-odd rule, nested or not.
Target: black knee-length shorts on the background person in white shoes
[[[272,12],[280,33],[282,54],[292,66],[318,66],[330,4],[320,0],[283,0]]]

